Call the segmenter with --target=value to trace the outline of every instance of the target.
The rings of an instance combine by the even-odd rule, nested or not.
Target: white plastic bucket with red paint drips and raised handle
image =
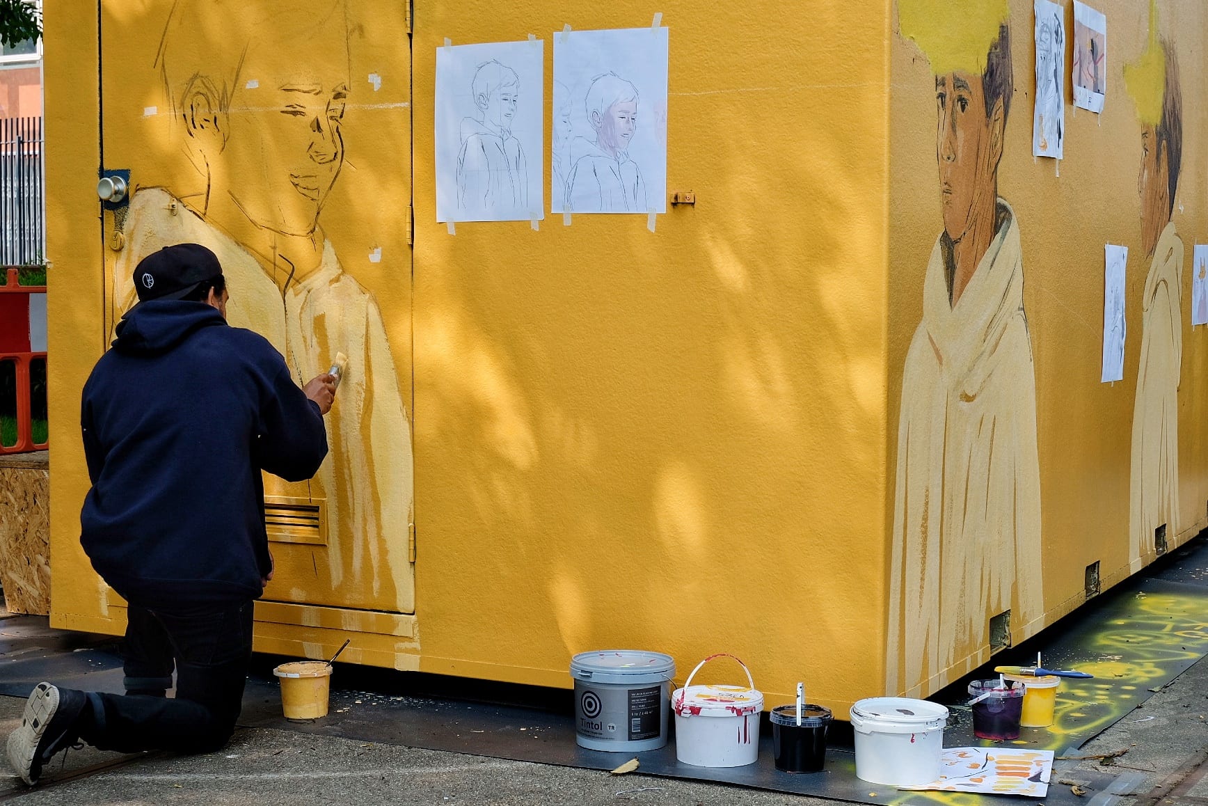
[[[715,657],[733,657],[747,672],[748,686],[692,685],[701,667]],[[733,655],[719,653],[697,663],[683,689],[672,695],[675,711],[675,758],[697,767],[741,767],[759,758],[759,718],[763,695],[750,669]]]

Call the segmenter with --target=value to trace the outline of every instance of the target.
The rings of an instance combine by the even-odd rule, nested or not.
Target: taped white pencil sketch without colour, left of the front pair
[[[540,40],[436,48],[436,220],[545,218]]]

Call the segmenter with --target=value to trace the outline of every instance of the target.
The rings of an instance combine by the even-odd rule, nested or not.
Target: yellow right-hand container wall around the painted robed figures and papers
[[[923,52],[899,31],[896,6],[901,1],[895,0],[890,48],[887,530],[894,516],[902,367],[922,315],[924,271],[941,231],[935,80]],[[1061,5],[1071,33],[1073,2]],[[1192,330],[1190,314],[1192,245],[1208,242],[1208,110],[1200,103],[1208,91],[1208,63],[1196,36],[1208,25],[1208,8],[1175,0],[1157,5],[1160,33],[1173,42],[1183,89],[1183,169],[1173,216],[1185,248],[1178,392],[1180,512],[1169,534],[1173,547],[1208,524],[1208,329]],[[998,175],[999,195],[1018,220],[1023,250],[1024,311],[1036,385],[1043,543],[1038,562],[1045,624],[1085,601],[1087,564],[1099,561],[1104,588],[1129,573],[1133,404],[1143,332],[1140,298],[1150,261],[1142,248],[1138,193],[1142,127],[1125,89],[1123,65],[1146,47],[1149,10],[1148,4],[1132,0],[1099,0],[1092,6],[1108,17],[1108,93],[1102,115],[1074,109],[1071,50],[1067,47],[1065,158],[1058,176],[1053,160],[1032,156],[1033,4],[1010,2],[1015,94]],[[1116,383],[1099,383],[1107,243],[1129,250],[1123,381]],[[971,665],[988,654],[985,645],[964,649],[963,661]],[[964,671],[964,663],[946,669],[937,675],[939,683]]]

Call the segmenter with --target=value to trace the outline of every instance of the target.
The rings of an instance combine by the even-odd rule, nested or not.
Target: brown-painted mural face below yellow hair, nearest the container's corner
[[[935,109],[943,230],[959,242],[972,224],[982,195],[997,192],[995,122],[986,116],[981,76],[969,73],[936,76]]]

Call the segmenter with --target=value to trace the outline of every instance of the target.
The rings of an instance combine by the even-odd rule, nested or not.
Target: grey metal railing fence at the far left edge
[[[0,266],[43,261],[42,118],[0,118]]]

